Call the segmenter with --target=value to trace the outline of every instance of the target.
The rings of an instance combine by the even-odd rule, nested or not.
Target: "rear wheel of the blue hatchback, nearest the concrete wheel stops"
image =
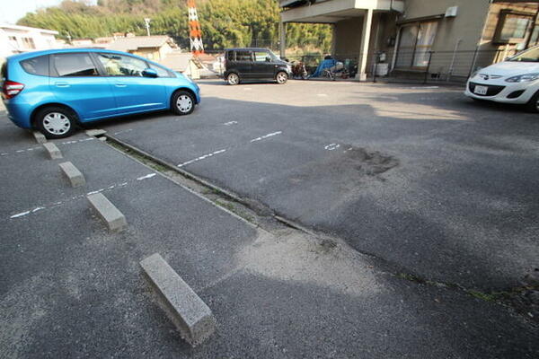
[[[73,111],[62,107],[51,106],[40,109],[36,114],[36,127],[47,138],[64,138],[75,132]]]

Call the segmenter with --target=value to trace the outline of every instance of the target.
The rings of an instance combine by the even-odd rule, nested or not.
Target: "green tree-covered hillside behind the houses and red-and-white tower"
[[[276,0],[199,0],[199,19],[205,47],[278,47]],[[59,31],[67,39],[95,39],[113,32],[146,35],[144,18],[151,18],[153,35],[170,35],[189,45],[186,0],[98,0],[97,4],[64,1],[58,6],[27,13],[18,24]],[[290,48],[331,47],[331,28],[323,24],[289,24]]]

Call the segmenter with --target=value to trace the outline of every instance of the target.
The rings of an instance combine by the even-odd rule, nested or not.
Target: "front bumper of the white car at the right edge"
[[[486,86],[488,88],[487,94],[475,93],[475,86]],[[466,83],[464,94],[478,100],[525,104],[530,101],[538,90],[539,82],[537,81],[532,83],[507,83],[504,80],[484,81],[473,78]]]

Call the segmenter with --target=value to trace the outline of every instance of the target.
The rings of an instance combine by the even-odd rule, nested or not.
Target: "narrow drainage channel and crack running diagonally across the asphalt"
[[[225,208],[234,213],[234,215],[243,218],[243,220],[252,223],[252,225],[256,227],[260,227],[264,231],[270,232],[275,236],[286,236],[289,235],[290,232],[298,231],[314,237],[314,239],[321,241],[323,245],[334,246],[337,243],[340,243],[349,247],[348,243],[340,238],[305,228],[305,226],[299,223],[295,223],[294,221],[276,214],[268,206],[264,206],[260,202],[252,200],[251,198],[240,197],[225,188],[219,188],[215,184],[208,182],[208,180],[204,180],[197,175],[184,171],[181,168],[174,166],[172,163],[165,162],[114,136],[104,134],[102,136],[97,136],[97,138],[117,149],[119,152],[128,155],[135,161],[141,162],[147,167],[162,173],[165,177],[180,184],[182,187],[190,189],[190,191],[196,193],[200,197],[208,199],[216,206]],[[354,250],[364,258],[373,261],[373,264],[376,265],[380,274],[394,276],[418,285],[434,285],[449,290],[461,291],[485,302],[498,302],[499,304],[516,311],[533,324],[539,324],[539,311],[536,311],[536,308],[539,308],[539,302],[536,302],[535,299],[530,299],[530,296],[535,298],[538,296],[537,293],[539,293],[539,285],[536,285],[535,283],[508,288],[501,291],[481,292],[466,288],[459,284],[438,282],[436,280],[422,278],[411,274],[406,268],[399,266],[396,263],[391,263],[384,258],[379,258],[376,255],[357,249],[350,248],[350,250]],[[532,309],[534,314],[528,311],[528,309]]]

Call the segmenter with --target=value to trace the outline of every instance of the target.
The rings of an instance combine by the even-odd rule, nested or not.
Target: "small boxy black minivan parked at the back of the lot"
[[[227,48],[225,81],[238,84],[245,80],[275,80],[287,83],[292,68],[268,48]]]

